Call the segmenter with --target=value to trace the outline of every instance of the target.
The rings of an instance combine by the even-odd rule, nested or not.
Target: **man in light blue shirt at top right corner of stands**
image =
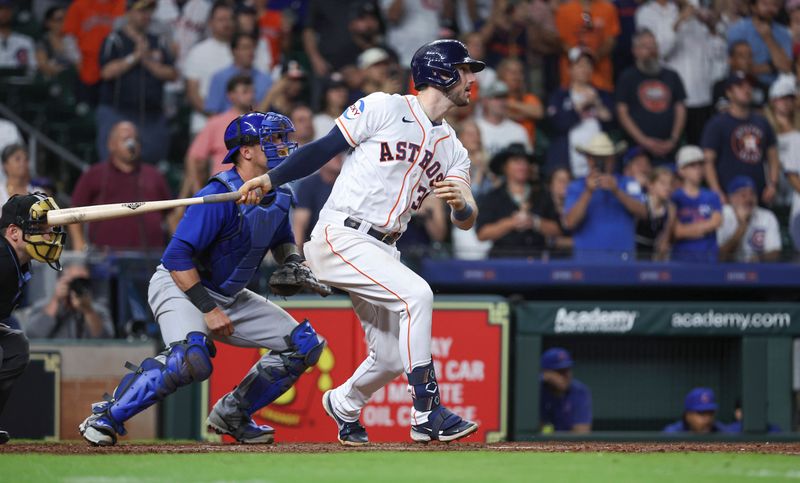
[[[728,29],[728,46],[744,40],[753,49],[753,72],[762,84],[769,85],[778,73],[792,71],[792,34],[775,22],[783,2],[754,0],[751,16]]]

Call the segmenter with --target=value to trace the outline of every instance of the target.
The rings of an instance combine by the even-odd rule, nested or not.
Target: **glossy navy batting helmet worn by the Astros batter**
[[[458,40],[434,40],[417,49],[411,59],[414,88],[427,85],[448,89],[461,77],[458,66],[466,65],[472,72],[480,72],[486,64],[469,56],[467,47]]]

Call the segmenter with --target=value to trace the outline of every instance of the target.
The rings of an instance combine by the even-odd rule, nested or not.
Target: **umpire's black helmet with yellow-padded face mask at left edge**
[[[44,193],[14,195],[3,205],[0,229],[16,225],[22,230],[25,251],[33,258],[61,270],[61,251],[67,234],[63,226],[49,226],[47,212],[57,210],[53,198]]]

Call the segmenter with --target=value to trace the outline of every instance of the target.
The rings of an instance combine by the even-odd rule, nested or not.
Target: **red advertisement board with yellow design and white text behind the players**
[[[295,319],[308,319],[327,341],[318,363],[254,417],[275,428],[278,442],[336,441],[336,424],[322,409],[322,395],[347,380],[367,356],[364,332],[349,300],[286,301]],[[442,404],[476,421],[472,441],[499,441],[506,435],[508,394],[508,306],[504,302],[447,301],[434,304],[431,352]],[[265,353],[217,344],[214,373],[205,386],[210,408],[230,391]],[[378,390],[361,423],[370,441],[410,441],[411,395],[404,375]],[[205,411],[202,414],[206,414]],[[208,435],[214,439],[215,435]]]

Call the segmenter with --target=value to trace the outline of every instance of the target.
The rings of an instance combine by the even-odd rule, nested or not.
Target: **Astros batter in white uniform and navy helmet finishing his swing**
[[[368,442],[359,423],[370,396],[405,372],[413,399],[411,438],[453,441],[478,426],[440,404],[431,359],[433,292],[400,263],[395,242],[431,193],[451,207],[461,229],[477,216],[470,160],[444,120],[469,103],[475,72],[484,64],[455,40],[421,47],[411,69],[417,96],[374,93],[347,108],[324,138],[240,188],[242,202],[298,179],[347,151],[342,171],[319,214],[304,252],[320,281],[349,292],[366,333],[369,355],[344,384],[323,396],[339,441]]]

